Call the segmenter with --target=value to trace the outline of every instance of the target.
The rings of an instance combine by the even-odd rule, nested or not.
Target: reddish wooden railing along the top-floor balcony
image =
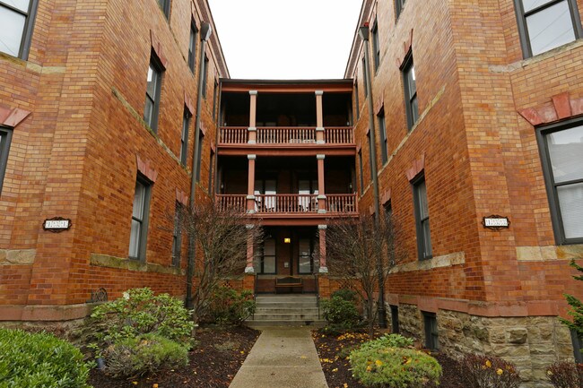
[[[247,144],[248,128],[243,126],[222,126],[220,144]],[[324,141],[329,144],[352,144],[352,126],[324,128]],[[257,127],[257,144],[316,144],[315,127]]]

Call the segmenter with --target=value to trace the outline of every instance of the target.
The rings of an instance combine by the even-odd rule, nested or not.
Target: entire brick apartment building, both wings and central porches
[[[201,40],[205,0],[21,3],[0,0],[22,30],[0,32],[0,320],[81,318],[98,289],[183,296],[172,214],[216,194],[278,241],[248,271],[264,291],[320,273],[302,252],[326,246],[331,214],[378,205],[408,252],[395,329],[530,382],[573,357],[556,317],[583,296],[581,0],[364,0],[345,79],[319,82],[231,80],[217,34]],[[71,228],[44,230],[56,217]]]

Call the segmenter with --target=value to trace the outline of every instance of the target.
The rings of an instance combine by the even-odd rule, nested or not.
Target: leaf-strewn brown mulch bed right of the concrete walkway
[[[369,335],[363,332],[346,332],[340,335],[312,332],[322,370],[330,388],[365,388],[352,377],[350,362],[346,359],[351,349],[369,341]],[[431,354],[437,358],[443,370],[439,388],[466,388],[460,378],[461,367],[456,360],[444,354]],[[431,386],[431,385],[428,385]]]

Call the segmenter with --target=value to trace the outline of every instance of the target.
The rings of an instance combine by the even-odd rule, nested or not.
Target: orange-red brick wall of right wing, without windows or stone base
[[[381,64],[376,74],[373,70],[372,101],[375,113],[384,107],[390,158],[383,167],[378,149],[380,197],[390,192],[406,261],[415,262],[413,192],[405,171],[424,154],[433,256],[463,252],[466,260],[396,274],[389,292],[526,304],[541,314],[558,311],[552,305],[565,306],[563,292],[581,293],[570,279],[568,261],[517,260],[519,247],[555,244],[535,128],[518,110],[565,91],[581,96],[579,42],[520,62],[512,0],[408,1],[397,22],[393,2],[370,3],[361,22],[372,26],[376,17],[379,23]],[[419,113],[427,112],[407,134],[399,65],[411,30]],[[356,133],[368,187],[359,207],[368,212],[373,203],[362,49],[352,56],[356,68],[348,75],[359,82]],[[379,144],[376,117],[375,125]],[[482,217],[490,214],[508,216],[511,227],[483,228]]]

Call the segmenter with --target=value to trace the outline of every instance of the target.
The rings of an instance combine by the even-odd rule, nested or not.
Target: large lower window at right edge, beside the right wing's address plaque
[[[583,122],[537,131],[558,244],[583,243]]]

